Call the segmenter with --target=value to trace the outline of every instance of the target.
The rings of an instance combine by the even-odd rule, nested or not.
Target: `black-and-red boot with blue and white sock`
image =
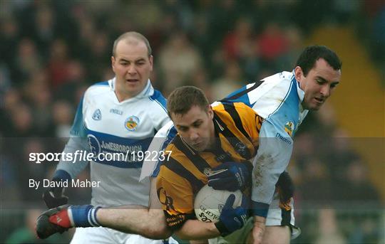
[[[55,233],[63,233],[72,227],[100,226],[96,221],[96,211],[98,208],[92,205],[63,205],[51,208],[37,218],[36,234],[39,238],[45,239]]]

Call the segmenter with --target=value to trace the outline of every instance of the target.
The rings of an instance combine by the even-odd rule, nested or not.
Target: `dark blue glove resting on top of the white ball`
[[[237,191],[250,185],[252,164],[229,161],[212,169],[207,184],[215,190]]]

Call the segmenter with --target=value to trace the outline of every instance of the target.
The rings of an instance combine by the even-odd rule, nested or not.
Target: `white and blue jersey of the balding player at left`
[[[146,152],[155,133],[170,121],[165,102],[150,80],[140,94],[122,102],[116,97],[115,78],[88,87],[64,152],[83,149],[95,156],[91,181],[100,184],[92,189],[93,205],[148,206],[150,182],[139,182],[143,157],[138,152]],[[57,171],[64,170],[75,179],[87,164],[61,161]]]

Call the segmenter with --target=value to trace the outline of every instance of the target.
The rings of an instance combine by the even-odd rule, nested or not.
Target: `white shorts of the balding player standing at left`
[[[173,238],[151,240],[141,235],[127,234],[110,228],[76,228],[71,244],[178,244]]]

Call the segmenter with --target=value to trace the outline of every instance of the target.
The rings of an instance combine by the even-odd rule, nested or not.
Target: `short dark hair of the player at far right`
[[[297,65],[302,68],[304,76],[314,67],[319,58],[323,58],[334,70],[341,70],[342,63],[334,51],[327,48],[327,46],[308,46],[304,48],[297,60]]]

